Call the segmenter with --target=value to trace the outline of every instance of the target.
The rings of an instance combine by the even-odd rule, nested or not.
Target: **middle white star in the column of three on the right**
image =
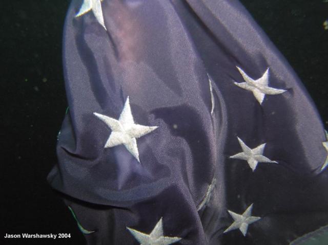
[[[232,155],[230,158],[247,161],[253,171],[256,169],[257,164],[259,162],[277,163],[276,161],[271,161],[269,158],[266,158],[262,155],[266,143],[259,145],[254,149],[251,149],[239,137],[237,138],[242,148],[242,152]]]

